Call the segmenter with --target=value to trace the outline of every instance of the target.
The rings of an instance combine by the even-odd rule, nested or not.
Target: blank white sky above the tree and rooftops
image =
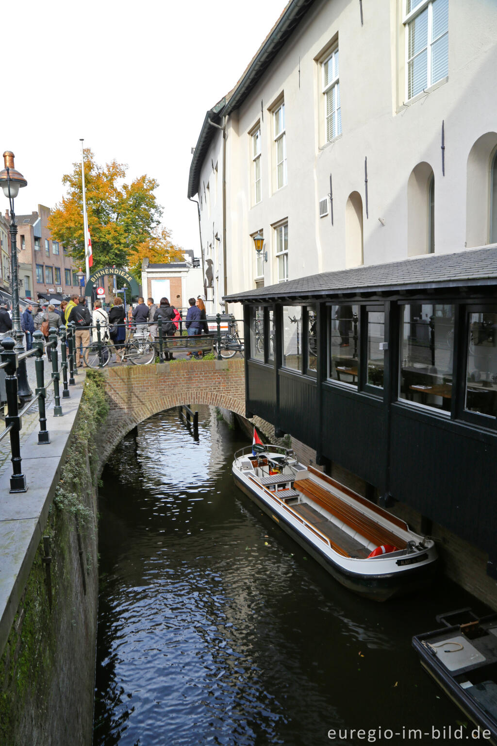
[[[143,173],[159,181],[162,222],[175,243],[200,255],[197,206],[186,198],[191,147],[206,111],[232,89],[284,7],[285,0],[5,2],[0,155],[13,151],[28,181],[16,213],[60,201],[84,137],[97,163],[127,163],[127,181]],[[2,213],[7,207],[0,201]]]

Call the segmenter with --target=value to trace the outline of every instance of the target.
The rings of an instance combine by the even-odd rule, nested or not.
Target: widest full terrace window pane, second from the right
[[[399,398],[451,408],[455,307],[406,304],[401,317]]]

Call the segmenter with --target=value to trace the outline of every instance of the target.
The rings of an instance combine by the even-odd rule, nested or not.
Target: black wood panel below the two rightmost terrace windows
[[[390,492],[463,539],[493,552],[496,441],[493,433],[394,406]]]

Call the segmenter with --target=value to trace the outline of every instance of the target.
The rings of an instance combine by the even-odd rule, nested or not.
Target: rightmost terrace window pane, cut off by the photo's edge
[[[497,416],[497,313],[470,313],[465,409]]]

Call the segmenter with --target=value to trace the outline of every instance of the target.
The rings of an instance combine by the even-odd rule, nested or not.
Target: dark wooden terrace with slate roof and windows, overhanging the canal
[[[246,407],[487,551],[497,577],[497,247],[232,293]]]

